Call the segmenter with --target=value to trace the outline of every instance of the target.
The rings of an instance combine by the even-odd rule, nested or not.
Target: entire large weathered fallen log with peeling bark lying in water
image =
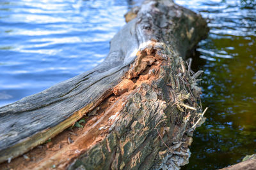
[[[36,148],[31,150],[24,167],[177,169],[188,162],[188,145],[204,114],[199,73],[193,75],[182,57],[206,36],[207,24],[170,0],[145,1],[132,16],[102,64],[0,108],[0,162],[48,139],[51,145],[40,147],[44,156],[29,160]],[[67,136],[64,130],[83,117],[83,129]],[[58,142],[62,138],[68,143]],[[19,159],[2,167],[24,169]]]

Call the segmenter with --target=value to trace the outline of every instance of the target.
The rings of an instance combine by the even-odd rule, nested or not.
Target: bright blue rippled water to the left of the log
[[[1,0],[0,106],[102,62],[131,5],[117,0]]]

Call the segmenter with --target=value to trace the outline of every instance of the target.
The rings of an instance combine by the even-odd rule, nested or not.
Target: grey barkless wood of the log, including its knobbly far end
[[[152,40],[166,43],[172,55],[185,57],[205,30],[200,15],[172,1],[145,1],[137,17],[111,40],[102,64],[0,108],[0,162],[28,152],[92,111],[129,71],[137,52]]]

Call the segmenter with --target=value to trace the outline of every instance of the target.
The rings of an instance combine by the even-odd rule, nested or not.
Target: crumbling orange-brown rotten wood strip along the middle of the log
[[[95,109],[91,113],[95,116],[86,117],[83,129],[63,131],[52,138],[51,142],[40,145],[25,156],[12,160],[11,164],[8,162],[1,164],[0,169],[48,169],[52,166],[65,169],[78,155],[106,138],[109,128],[118,117],[118,111],[127,102],[129,93],[134,88],[140,87],[142,83],[152,83],[159,76],[159,67],[163,65],[163,59],[156,57],[156,50],[153,49],[154,42],[151,46],[152,48],[146,48],[137,53],[138,57],[134,65],[125,74],[123,80],[102,96],[99,106],[93,107]],[[82,113],[81,115],[86,115],[89,112],[83,110]],[[56,164],[57,160],[58,164]]]

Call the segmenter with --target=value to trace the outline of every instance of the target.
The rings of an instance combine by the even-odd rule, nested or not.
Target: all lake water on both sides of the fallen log
[[[209,18],[193,57],[207,121],[189,164],[216,169],[256,153],[256,10],[244,1],[176,1]],[[248,1],[253,2],[253,1]],[[138,1],[135,2],[135,4]],[[131,1],[0,1],[0,106],[96,66],[125,24]]]

